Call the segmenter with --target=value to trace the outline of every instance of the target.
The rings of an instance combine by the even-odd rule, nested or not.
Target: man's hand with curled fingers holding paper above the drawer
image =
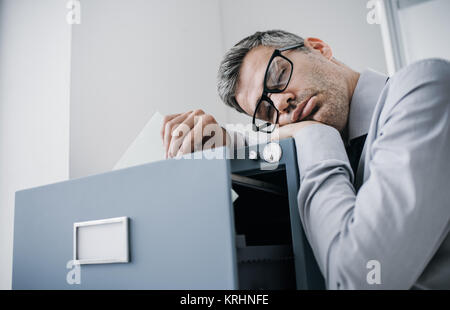
[[[212,115],[202,110],[165,116],[161,137],[166,158],[223,146],[229,140],[225,129],[219,126]]]

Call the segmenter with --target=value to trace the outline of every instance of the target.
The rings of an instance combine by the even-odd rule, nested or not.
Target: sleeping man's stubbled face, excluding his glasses
[[[264,74],[274,50],[256,47],[242,63],[236,100],[250,116],[261,97]],[[315,120],[342,131],[347,124],[350,98],[338,66],[316,50],[290,50],[283,55],[294,65],[291,80],[282,93],[268,94],[279,111],[279,125]]]

